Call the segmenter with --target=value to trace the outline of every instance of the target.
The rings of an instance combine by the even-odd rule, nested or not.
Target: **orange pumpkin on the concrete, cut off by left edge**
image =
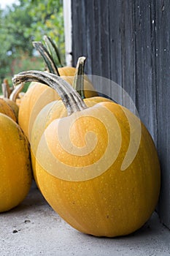
[[[31,187],[28,140],[19,125],[0,114],[0,212],[18,206]]]

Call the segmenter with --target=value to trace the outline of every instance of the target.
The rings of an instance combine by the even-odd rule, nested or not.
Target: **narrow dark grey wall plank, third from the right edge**
[[[121,51],[122,51],[122,86],[129,97],[136,104],[136,67],[135,67],[135,31],[134,31],[134,3],[133,1],[122,1],[121,22]],[[130,110],[134,105],[126,97],[123,105]]]

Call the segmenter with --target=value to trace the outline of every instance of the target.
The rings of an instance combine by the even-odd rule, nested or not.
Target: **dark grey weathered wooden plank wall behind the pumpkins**
[[[73,64],[128,92],[161,161],[158,213],[170,227],[170,1],[72,0]],[[110,92],[112,96],[112,91]]]

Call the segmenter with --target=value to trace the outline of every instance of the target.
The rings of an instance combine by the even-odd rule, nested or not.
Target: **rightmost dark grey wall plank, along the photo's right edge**
[[[158,85],[158,152],[161,159],[162,187],[159,214],[170,227],[170,2],[156,1],[156,80]]]

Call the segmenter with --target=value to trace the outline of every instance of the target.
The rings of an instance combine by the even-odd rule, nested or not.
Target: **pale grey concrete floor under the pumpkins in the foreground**
[[[0,256],[170,256],[170,231],[156,213],[131,236],[87,236],[64,222],[34,184],[26,200],[0,219]]]

